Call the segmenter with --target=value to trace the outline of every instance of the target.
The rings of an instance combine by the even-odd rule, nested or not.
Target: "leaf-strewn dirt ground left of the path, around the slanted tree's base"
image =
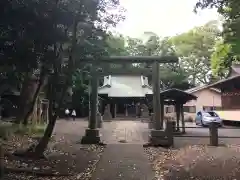
[[[36,141],[26,136],[11,137],[4,146],[5,166],[12,169],[25,169],[32,173],[6,173],[4,180],[90,179],[103,152],[103,147],[81,145],[79,141],[84,132],[73,132],[71,127],[74,123],[61,121],[56,124],[54,136],[46,151],[47,160],[27,160],[11,156],[14,150],[25,149]],[[79,130],[84,131],[84,129]]]

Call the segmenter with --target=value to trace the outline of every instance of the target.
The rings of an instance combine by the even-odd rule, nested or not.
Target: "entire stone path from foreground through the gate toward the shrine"
[[[112,129],[112,131],[109,131]],[[111,122],[102,130],[102,139],[107,147],[97,165],[92,180],[152,180],[152,171],[144,153],[147,131],[141,122]],[[119,140],[126,140],[120,143]]]

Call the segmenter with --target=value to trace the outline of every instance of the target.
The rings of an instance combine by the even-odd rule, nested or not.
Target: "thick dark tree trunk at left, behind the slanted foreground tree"
[[[28,117],[31,115],[32,104],[35,104],[35,94],[38,89],[38,81],[32,78],[32,74],[28,74],[24,80],[23,87],[20,93],[20,99],[18,104],[18,115],[16,123],[20,124],[24,122],[27,124]],[[29,113],[30,112],[30,113]],[[28,116],[28,117],[27,117]],[[27,117],[27,118],[26,118]]]

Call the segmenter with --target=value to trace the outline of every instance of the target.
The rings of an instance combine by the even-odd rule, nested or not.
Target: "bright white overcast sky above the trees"
[[[144,32],[174,36],[219,18],[215,9],[193,12],[196,0],[120,0],[126,19],[116,31],[139,38]]]

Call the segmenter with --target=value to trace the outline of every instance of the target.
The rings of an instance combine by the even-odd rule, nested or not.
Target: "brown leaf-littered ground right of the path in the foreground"
[[[180,149],[146,148],[157,180],[238,179],[240,145],[187,146]]]

